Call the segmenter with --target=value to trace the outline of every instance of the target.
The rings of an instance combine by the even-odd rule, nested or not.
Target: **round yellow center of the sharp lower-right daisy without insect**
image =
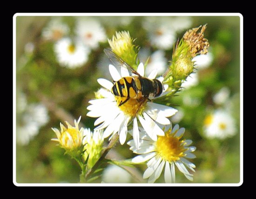
[[[187,150],[182,146],[183,141],[179,139],[174,137],[173,134],[169,134],[169,132],[165,136],[159,136],[156,141],[156,152],[168,162],[179,160]]]

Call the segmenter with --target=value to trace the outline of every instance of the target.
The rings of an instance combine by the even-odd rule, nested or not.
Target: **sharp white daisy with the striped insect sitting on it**
[[[114,81],[119,81],[122,77],[130,76],[128,70],[121,68],[121,74],[117,71],[115,66],[109,65],[109,72]],[[144,66],[141,63],[138,66],[137,72],[143,77]],[[152,71],[148,79],[155,79],[157,70]],[[163,80],[162,77],[159,80]],[[139,129],[138,120],[141,126],[148,133],[149,137],[153,140],[157,140],[157,135],[163,136],[163,130],[157,125],[157,123],[167,125],[170,124],[168,117],[174,115],[177,110],[153,102],[144,100],[142,103],[138,102],[137,99],[130,98],[126,103],[120,104],[120,97],[116,97],[111,93],[113,83],[109,80],[98,79],[99,84],[106,88],[108,91],[106,98],[90,100],[90,106],[87,107],[89,112],[87,116],[98,118],[94,122],[94,125],[99,125],[95,130],[106,128],[103,133],[103,137],[107,138],[111,134],[118,132],[121,145],[126,141],[128,125],[133,122],[133,138],[135,139],[135,145],[139,146]],[[167,90],[167,86],[164,85],[164,92]],[[112,136],[111,136],[112,137]],[[111,139],[110,137],[110,139]]]

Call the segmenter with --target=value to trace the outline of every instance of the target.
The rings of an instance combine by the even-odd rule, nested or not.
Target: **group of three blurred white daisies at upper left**
[[[107,36],[98,20],[86,17],[77,18],[75,36],[68,36],[70,28],[61,18],[50,20],[42,32],[43,38],[54,41],[54,52],[61,66],[81,67],[88,61],[91,50],[105,42]]]

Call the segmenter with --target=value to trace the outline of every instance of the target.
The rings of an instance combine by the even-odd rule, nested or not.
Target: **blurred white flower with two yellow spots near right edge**
[[[206,116],[203,130],[208,138],[225,139],[232,137],[236,134],[235,119],[230,113],[218,109]]]

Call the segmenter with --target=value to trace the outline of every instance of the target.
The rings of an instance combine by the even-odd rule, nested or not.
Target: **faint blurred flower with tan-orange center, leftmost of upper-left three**
[[[46,40],[59,40],[69,33],[69,27],[62,23],[61,18],[52,19],[47,27],[42,30],[42,36]]]

